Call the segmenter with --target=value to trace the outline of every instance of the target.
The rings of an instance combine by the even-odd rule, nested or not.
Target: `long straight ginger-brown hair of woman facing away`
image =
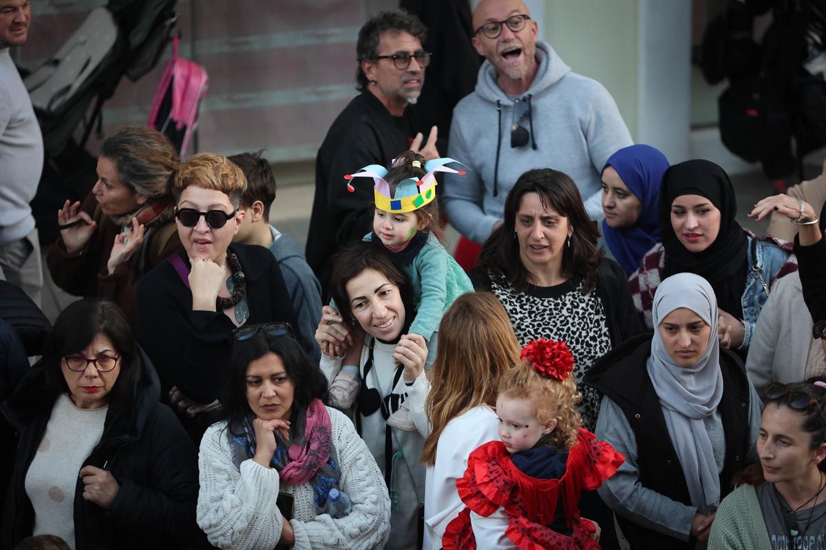
[[[519,360],[520,347],[505,308],[485,292],[459,296],[439,323],[439,350],[425,401],[430,435],[421,462],[436,462],[444,426],[464,412],[496,407],[499,378]]]

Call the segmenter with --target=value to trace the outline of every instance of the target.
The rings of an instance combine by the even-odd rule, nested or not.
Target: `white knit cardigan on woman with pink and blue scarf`
[[[358,437],[353,423],[340,411],[327,407],[333,442],[341,466],[341,489],[353,511],[341,519],[316,516],[310,483],[298,487],[281,484],[278,471],[252,459],[239,468],[232,461],[226,422],[207,429],[201,440],[198,470],[197,522],[209,542],[218,548],[273,550],[281,538],[282,515],[276,506],[278,491],[294,496],[296,543],[292,548],[382,548],[390,533],[390,498],[373,455]]]

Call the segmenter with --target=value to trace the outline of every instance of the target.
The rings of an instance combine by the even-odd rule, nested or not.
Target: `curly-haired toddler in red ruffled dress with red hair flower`
[[[579,427],[565,342],[529,342],[521,358],[499,383],[501,441],[474,450],[456,480],[467,507],[445,529],[444,550],[490,548],[503,534],[515,548],[600,548],[596,524],[580,516],[577,503],[625,458]]]

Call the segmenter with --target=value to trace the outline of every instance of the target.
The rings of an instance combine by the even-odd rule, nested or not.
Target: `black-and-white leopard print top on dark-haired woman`
[[[582,280],[567,280],[549,287],[530,286],[517,293],[504,277],[491,275],[491,292],[510,317],[520,346],[537,338],[566,341],[574,357],[573,373],[582,393],[582,425],[593,431],[601,395],[582,384],[594,362],[611,349],[605,307],[595,291],[582,294]]]

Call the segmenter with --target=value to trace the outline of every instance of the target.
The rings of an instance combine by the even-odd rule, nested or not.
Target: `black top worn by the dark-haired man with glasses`
[[[351,181],[346,174],[368,164],[390,165],[411,146],[415,124],[411,110],[392,116],[372,92],[362,92],[344,107],[327,131],[316,156],[316,195],[307,234],[307,263],[328,293],[327,264],[347,242],[360,241],[373,227],[373,180]]]

